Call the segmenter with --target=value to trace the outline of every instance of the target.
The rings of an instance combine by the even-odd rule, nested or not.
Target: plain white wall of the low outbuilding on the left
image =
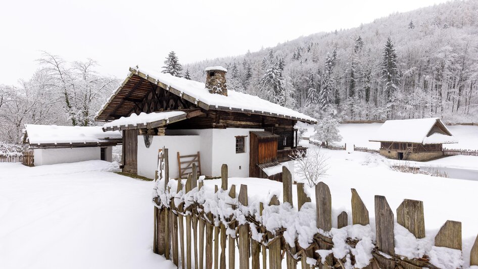
[[[99,147],[34,149],[34,165],[100,160]]]

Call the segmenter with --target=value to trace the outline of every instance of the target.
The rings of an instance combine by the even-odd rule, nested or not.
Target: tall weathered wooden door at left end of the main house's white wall
[[[136,174],[138,171],[138,130],[123,131],[123,171]]]

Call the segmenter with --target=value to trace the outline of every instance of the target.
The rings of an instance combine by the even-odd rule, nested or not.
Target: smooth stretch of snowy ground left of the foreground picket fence
[[[174,268],[152,252],[152,182],[104,161],[0,164],[0,268]]]

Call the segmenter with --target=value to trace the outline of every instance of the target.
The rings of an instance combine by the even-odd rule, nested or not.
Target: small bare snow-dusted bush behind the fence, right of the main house
[[[309,149],[309,153],[296,151],[292,154],[295,161],[297,174],[307,181],[309,187],[314,187],[319,183],[320,177],[325,176],[328,165],[327,158],[320,154],[318,149]]]

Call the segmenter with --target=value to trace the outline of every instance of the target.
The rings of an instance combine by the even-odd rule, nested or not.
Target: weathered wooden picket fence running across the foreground
[[[284,257],[288,269],[297,268],[297,263],[301,263],[302,268],[345,268],[344,264],[347,262],[352,266],[358,262],[351,251],[343,257],[336,257],[331,251],[334,247],[329,233],[332,229],[331,195],[328,186],[322,182],[315,186],[316,198],[313,203],[316,205],[317,228],[323,232],[315,234],[308,246],[301,246],[297,239],[293,244],[286,242],[284,232],[288,227],[269,231],[263,224],[265,223],[263,212],[270,212],[268,210],[282,206],[277,196],[272,196],[268,203],[259,203],[256,208],[257,214],[239,210],[249,205],[248,186],[241,185],[237,196],[236,186],[228,185],[227,165],[223,164],[221,167],[221,186],[215,186],[214,199],[217,199],[217,206],[221,203],[223,206],[229,206],[231,210],[226,212],[230,215],[206,212],[205,204],[193,199],[203,188],[203,181],[198,181],[196,167],[193,173],[188,175],[184,186],[180,180],[178,181],[177,192],[182,191],[181,197],[184,200],[178,199],[177,196],[175,199],[169,194],[168,174],[169,167],[165,165],[165,179],[159,181],[159,187],[165,189],[161,189],[164,192],[154,199],[156,206],[153,250],[171,259],[178,267],[234,268],[235,260],[238,259],[241,269],[247,269],[250,265],[254,269],[281,268]],[[298,183],[293,187],[292,175],[285,167],[282,175],[283,204],[289,203],[293,206],[297,203],[299,212],[312,215],[310,211],[304,211],[311,209],[304,207],[305,203],[311,202],[304,192],[304,184]],[[296,200],[293,198],[293,188],[297,188]],[[352,223],[367,226],[370,221],[368,210],[357,191],[351,189],[351,192]],[[396,214],[397,222],[417,239],[425,237],[422,201],[405,199],[397,208]],[[339,229],[348,226],[347,212],[341,212],[337,218]],[[384,196],[375,195],[375,227],[376,243],[371,250],[372,257],[368,260],[369,265],[366,268],[438,268],[431,264],[426,255],[408,259],[395,253],[394,211]],[[355,248],[359,243],[359,240],[353,238],[344,241],[344,244],[351,248]],[[461,251],[461,222],[447,220],[435,237],[435,246]],[[470,257],[470,264],[478,265],[478,238],[471,249]]]

